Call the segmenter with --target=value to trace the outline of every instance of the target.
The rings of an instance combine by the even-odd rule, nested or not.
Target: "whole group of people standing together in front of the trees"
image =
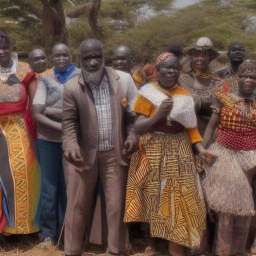
[[[106,67],[90,38],[80,68],[58,43],[48,69],[41,49],[18,61],[0,32],[0,233],[38,231],[46,246],[64,226],[65,255],[81,255],[93,236],[111,256],[125,252],[127,223],[140,222],[145,254],[155,237],[172,256],[209,245],[243,253],[255,215],[256,61],[239,41],[213,72],[217,56],[201,37],[131,73],[127,46]]]

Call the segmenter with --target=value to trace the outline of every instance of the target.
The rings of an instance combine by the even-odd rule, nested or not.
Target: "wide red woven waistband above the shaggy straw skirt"
[[[256,131],[247,130],[241,132],[229,128],[219,128],[217,133],[217,143],[234,151],[255,150]]]

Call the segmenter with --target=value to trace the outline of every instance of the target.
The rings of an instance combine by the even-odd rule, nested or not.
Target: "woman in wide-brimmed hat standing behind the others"
[[[194,45],[184,49],[184,54],[190,58],[190,65],[183,70],[185,73],[180,75],[178,84],[194,99],[197,126],[203,135],[212,113],[211,93],[226,84],[209,69],[210,61],[218,56],[209,38],[200,37]]]

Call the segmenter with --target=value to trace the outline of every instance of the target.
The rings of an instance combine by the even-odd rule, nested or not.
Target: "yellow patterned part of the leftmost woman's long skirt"
[[[0,158],[6,151],[9,159],[5,160],[9,161],[11,171],[11,175],[8,175],[6,166],[5,168],[3,166],[1,173],[1,178],[6,181],[4,183],[10,206],[10,221],[3,228],[3,233],[37,232],[39,231],[40,167],[21,114],[0,116],[0,139],[2,145],[6,143],[8,146],[7,151],[6,148],[1,148]],[[11,181],[14,193],[9,189]],[[10,195],[13,195],[13,198]],[[14,207],[11,206],[12,204]]]

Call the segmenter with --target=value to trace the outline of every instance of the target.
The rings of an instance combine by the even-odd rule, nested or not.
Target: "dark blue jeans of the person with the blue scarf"
[[[37,139],[42,173],[40,240],[58,239],[66,209],[61,143]]]

